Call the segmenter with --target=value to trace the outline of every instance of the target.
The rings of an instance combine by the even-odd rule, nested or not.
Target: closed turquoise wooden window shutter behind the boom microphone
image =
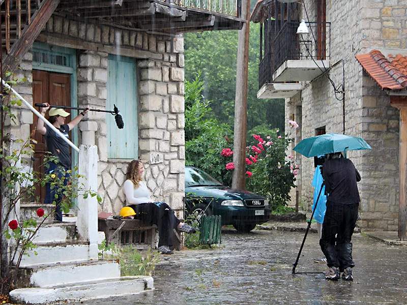
[[[116,105],[124,128],[118,129],[114,116],[106,114],[109,159],[138,159],[137,79],[133,58],[109,55],[106,109]]]

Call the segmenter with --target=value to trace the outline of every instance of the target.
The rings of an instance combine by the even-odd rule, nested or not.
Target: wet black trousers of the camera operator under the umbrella
[[[328,200],[319,246],[329,267],[339,267],[342,272],[354,267],[352,259],[352,234],[358,218],[359,203],[338,204]]]

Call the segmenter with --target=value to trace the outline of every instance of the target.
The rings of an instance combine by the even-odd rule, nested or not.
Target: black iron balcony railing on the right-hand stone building
[[[309,34],[297,35],[299,24],[300,22],[298,21],[285,22],[275,36],[275,39],[273,39],[273,31],[265,31],[264,57],[261,58],[258,68],[259,88],[265,83],[273,81],[273,73],[286,60],[321,60],[330,58],[330,22],[307,22]],[[273,24],[271,28],[273,28]]]

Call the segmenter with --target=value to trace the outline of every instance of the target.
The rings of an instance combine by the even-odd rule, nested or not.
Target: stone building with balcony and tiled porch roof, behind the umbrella
[[[405,199],[399,200],[400,107],[394,96],[405,95],[405,83],[395,74],[405,76],[405,65],[390,70],[393,56],[403,62],[407,55],[406,10],[402,0],[273,0],[259,1],[251,16],[264,28],[257,97],[285,99],[286,127],[288,119],[300,125],[289,148],[300,164],[290,205],[312,205],[314,160],[292,151],[301,139],[324,133],[362,137],[373,149],[347,153],[362,175],[358,225],[365,231],[399,230],[399,237],[405,236],[405,221],[398,220]],[[309,33],[297,35],[302,19]],[[383,57],[371,66],[358,57],[373,58],[374,49]],[[384,61],[388,65],[381,66]],[[382,79],[375,69],[384,73]]]

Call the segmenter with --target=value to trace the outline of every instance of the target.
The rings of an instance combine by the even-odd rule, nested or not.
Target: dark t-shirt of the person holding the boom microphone
[[[60,135],[56,134],[48,125],[45,125],[47,133],[44,135],[47,142],[47,150],[55,157],[58,157],[60,164],[65,168],[71,167],[71,156],[69,155],[69,145]],[[67,124],[61,125],[59,130],[64,136],[69,139],[69,126]]]

